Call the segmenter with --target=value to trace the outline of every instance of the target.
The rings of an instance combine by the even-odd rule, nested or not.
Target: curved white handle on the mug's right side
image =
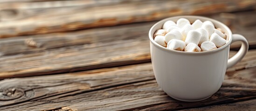
[[[240,62],[242,60],[242,58],[245,56],[245,54],[248,52],[249,43],[245,37],[243,37],[240,34],[233,34],[233,39],[232,39],[231,43],[234,43],[236,41],[241,41],[242,46],[234,56],[232,56],[230,59],[228,59],[227,68],[230,68],[230,67],[234,66],[237,62]]]

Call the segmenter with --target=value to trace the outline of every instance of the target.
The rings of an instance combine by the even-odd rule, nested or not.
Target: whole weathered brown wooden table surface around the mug
[[[176,15],[217,19],[249,41],[209,99],[174,100],[154,78],[148,31]],[[255,0],[1,0],[0,111],[255,111],[255,19]]]

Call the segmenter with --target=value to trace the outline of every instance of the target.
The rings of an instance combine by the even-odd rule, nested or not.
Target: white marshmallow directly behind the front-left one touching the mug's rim
[[[172,39],[183,40],[183,36],[181,35],[180,31],[178,31],[177,29],[173,29],[166,34],[165,41],[166,43],[168,43]]]

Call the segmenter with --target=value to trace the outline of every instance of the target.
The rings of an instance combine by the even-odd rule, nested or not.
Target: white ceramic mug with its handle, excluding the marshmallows
[[[153,40],[156,30],[161,29],[167,20],[176,22],[180,18],[193,23],[209,20],[216,28],[227,34],[227,43],[222,47],[205,52],[184,52],[167,49]],[[159,86],[173,99],[181,101],[200,101],[216,93],[224,80],[227,68],[239,62],[247,53],[249,44],[238,34],[232,34],[223,23],[201,16],[176,16],[163,19],[149,31],[150,52],[153,71]],[[231,43],[241,41],[242,47],[235,56],[228,59]]]

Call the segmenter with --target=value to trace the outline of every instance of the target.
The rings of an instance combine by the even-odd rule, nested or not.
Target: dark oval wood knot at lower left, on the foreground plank
[[[23,95],[25,95],[25,92],[22,88],[8,88],[0,92],[0,100],[18,99]]]

